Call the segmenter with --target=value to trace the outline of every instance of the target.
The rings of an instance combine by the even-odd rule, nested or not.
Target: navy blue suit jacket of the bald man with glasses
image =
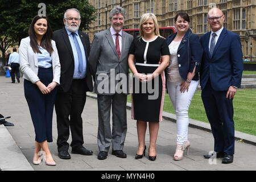
[[[223,28],[214,47],[212,57],[209,55],[210,33],[200,38],[204,48],[200,70],[200,85],[203,90],[210,78],[210,84],[216,91],[225,91],[229,86],[240,88],[243,60],[240,36]]]

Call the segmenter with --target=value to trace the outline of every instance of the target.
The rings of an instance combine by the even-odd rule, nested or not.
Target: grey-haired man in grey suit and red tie
[[[133,36],[122,31],[125,11],[114,7],[109,16],[111,27],[94,35],[89,65],[98,94],[98,159],[106,159],[110,144],[112,154],[126,158],[123,152],[127,132],[126,102],[128,90],[128,53]],[[123,84],[124,83],[124,84]],[[112,106],[112,133],[110,108]]]

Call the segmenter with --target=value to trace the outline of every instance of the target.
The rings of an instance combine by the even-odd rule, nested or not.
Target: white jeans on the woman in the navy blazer
[[[168,94],[174,106],[177,123],[177,144],[183,144],[188,140],[188,108],[196,92],[199,81],[192,80],[188,92],[180,92],[181,81],[167,81]]]

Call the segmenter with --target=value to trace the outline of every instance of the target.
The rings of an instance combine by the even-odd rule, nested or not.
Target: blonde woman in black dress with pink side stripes
[[[129,67],[134,74],[131,117],[137,120],[139,140],[135,159],[141,159],[145,155],[148,122],[150,132],[148,159],[155,160],[156,139],[159,122],[162,122],[165,90],[163,71],[168,66],[170,51],[166,39],[159,34],[158,22],[154,14],[146,13],[141,16],[139,32],[139,38],[135,38],[131,43],[128,58]],[[153,93],[149,89],[151,84]],[[143,88],[147,88],[146,92],[143,92]]]

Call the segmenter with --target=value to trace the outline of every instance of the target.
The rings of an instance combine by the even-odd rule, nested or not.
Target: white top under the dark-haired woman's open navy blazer
[[[183,81],[182,78],[180,77],[179,73],[179,67],[177,63],[177,49],[180,46],[180,42],[175,42],[172,41],[171,44],[169,45],[169,50],[170,50],[170,63],[167,67],[167,74],[168,74],[168,81],[171,82],[176,82],[176,81]]]

